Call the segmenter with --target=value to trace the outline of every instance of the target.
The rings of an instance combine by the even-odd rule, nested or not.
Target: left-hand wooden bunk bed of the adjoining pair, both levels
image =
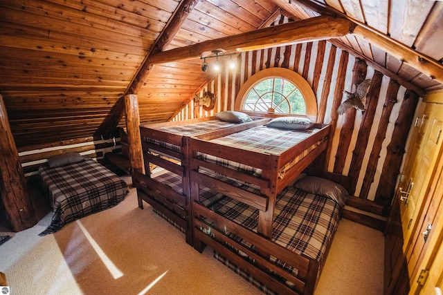
[[[213,116],[141,126],[146,172],[145,174],[138,171],[133,172],[138,207],[143,209],[143,201],[149,203],[156,213],[183,231],[186,234],[186,242],[192,245],[188,169],[189,138],[197,134],[211,133],[218,129],[230,129],[232,132],[236,132],[268,121],[269,119],[257,117],[250,122],[233,123],[218,120]],[[159,167],[163,171],[152,173],[154,167]],[[213,201],[212,198],[202,200],[205,204],[211,204]]]

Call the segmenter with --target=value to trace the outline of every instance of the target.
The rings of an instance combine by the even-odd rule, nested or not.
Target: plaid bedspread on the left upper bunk
[[[236,124],[237,123],[230,123],[215,119],[215,120],[186,124],[181,126],[162,127],[159,130],[177,135],[192,136],[192,135],[197,135],[199,133],[204,133],[208,131],[214,131],[217,129],[234,126]],[[148,138],[147,142],[152,144],[159,144],[160,146],[172,149],[173,151],[180,151],[180,146],[176,146],[175,144],[170,144],[168,142],[162,142],[160,140],[156,140],[155,138]]]

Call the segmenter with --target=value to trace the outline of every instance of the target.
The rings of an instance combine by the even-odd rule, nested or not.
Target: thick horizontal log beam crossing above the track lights
[[[352,30],[351,24],[350,21],[343,18],[314,17],[163,51],[152,55],[150,62],[163,64],[170,61],[197,58],[219,48],[228,53],[240,53],[303,41],[338,38],[347,35]]]

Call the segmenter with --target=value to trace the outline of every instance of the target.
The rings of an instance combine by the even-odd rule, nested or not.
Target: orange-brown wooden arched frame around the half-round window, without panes
[[[257,85],[258,83],[262,82],[266,79],[273,79],[273,78],[281,78],[285,79],[292,84],[294,84],[300,93],[303,96],[303,99],[305,99],[305,105],[306,105],[306,115],[298,115],[298,114],[289,114],[289,113],[272,113],[275,115],[296,115],[301,117],[309,117],[311,120],[316,120],[317,118],[317,99],[316,95],[314,94],[314,91],[312,90],[309,83],[298,73],[294,72],[293,70],[289,70],[287,68],[266,68],[265,70],[260,70],[260,72],[255,73],[255,75],[252,75],[249,77],[246,82],[240,87],[239,92],[237,93],[237,99],[235,99],[235,110],[238,111],[245,111],[243,110],[244,102],[246,100],[246,95],[249,93],[249,91],[252,90],[252,88]],[[264,112],[260,112],[264,113]]]

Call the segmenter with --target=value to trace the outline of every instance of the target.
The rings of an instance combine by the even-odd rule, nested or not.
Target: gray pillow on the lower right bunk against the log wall
[[[349,198],[349,193],[341,184],[315,176],[305,176],[298,180],[293,187],[334,200],[342,208],[345,207],[345,203]]]

